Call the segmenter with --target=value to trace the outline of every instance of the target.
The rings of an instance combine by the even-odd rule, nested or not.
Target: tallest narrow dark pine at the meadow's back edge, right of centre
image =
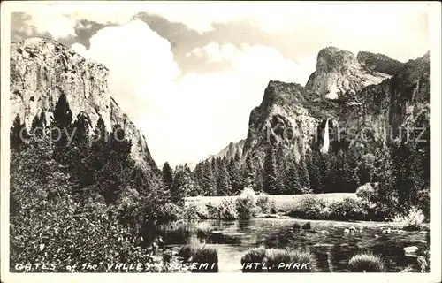
[[[283,191],[282,187],[283,185],[278,175],[275,152],[271,145],[269,145],[263,165],[263,191],[269,195],[277,195]]]

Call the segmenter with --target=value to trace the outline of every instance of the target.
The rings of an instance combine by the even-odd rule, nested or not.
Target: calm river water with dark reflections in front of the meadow
[[[385,223],[309,221],[312,229],[328,233],[293,233],[293,223],[308,222],[299,219],[249,219],[236,221],[204,220],[209,226],[207,245],[218,251],[220,272],[240,272],[240,258],[251,248],[263,245],[268,248],[308,249],[316,256],[319,272],[348,272],[349,259],[357,253],[372,252],[381,256],[388,272],[400,272],[416,259],[405,256],[403,248],[416,246],[423,249],[421,232],[391,232]],[[344,230],[354,226],[355,233]],[[362,226],[362,230],[360,227]]]

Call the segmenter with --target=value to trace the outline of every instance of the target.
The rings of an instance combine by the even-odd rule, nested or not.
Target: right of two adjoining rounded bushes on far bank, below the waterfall
[[[335,220],[362,220],[367,211],[362,209],[361,203],[354,198],[346,197],[342,201],[329,205],[330,218]]]

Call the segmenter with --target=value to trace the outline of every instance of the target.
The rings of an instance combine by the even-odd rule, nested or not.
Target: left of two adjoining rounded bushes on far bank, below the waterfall
[[[324,200],[318,198],[316,195],[303,195],[300,203],[297,203],[293,210],[289,212],[289,215],[294,218],[307,218],[307,219],[322,219],[326,218],[327,210]]]

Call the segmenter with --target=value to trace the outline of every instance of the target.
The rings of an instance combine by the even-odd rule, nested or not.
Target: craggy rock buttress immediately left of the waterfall
[[[299,84],[271,80],[265,88],[263,102],[250,113],[243,157],[252,153],[262,161],[269,142],[281,142],[300,157],[314,142],[321,114],[327,115],[310,115],[303,105],[315,100],[311,95]]]

